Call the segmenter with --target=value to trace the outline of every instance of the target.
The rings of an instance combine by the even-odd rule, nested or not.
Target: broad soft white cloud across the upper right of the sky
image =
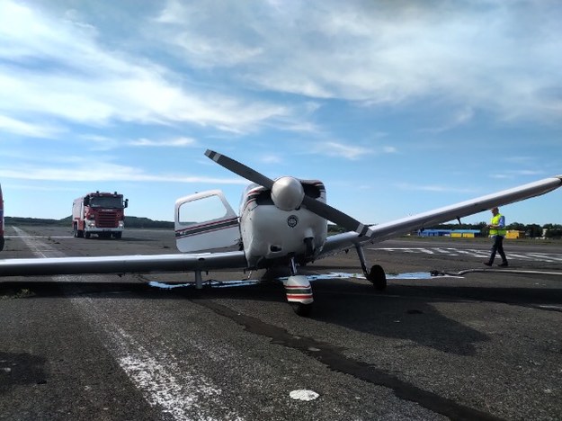
[[[371,104],[438,97],[461,107],[450,124],[473,108],[559,121],[561,20],[554,1],[172,1],[152,33],[190,66],[273,92]]]

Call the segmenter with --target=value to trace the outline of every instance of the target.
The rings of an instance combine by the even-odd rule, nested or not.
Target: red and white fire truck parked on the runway
[[[120,238],[125,228],[125,208],[129,199],[115,193],[88,193],[72,203],[74,237]]]

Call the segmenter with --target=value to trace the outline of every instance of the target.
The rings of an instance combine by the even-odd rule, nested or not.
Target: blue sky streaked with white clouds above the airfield
[[[237,210],[211,148],[379,223],[562,174],[562,5],[0,0],[0,92],[6,216],[95,190],[151,219],[214,188]]]

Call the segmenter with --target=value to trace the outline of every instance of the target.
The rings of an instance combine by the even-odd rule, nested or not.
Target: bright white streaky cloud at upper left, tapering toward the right
[[[187,122],[236,132],[287,118],[290,109],[190,85],[181,74],[103,46],[90,26],[31,7],[0,9],[0,112],[88,125]]]

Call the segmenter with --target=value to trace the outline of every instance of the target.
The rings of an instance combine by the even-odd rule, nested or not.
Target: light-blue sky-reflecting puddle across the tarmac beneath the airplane
[[[406,272],[406,273],[387,273],[387,279],[431,279],[435,275],[431,272]],[[448,274],[440,274],[440,278],[462,278],[462,276],[452,276]],[[317,275],[307,275],[307,279],[310,282],[326,280],[326,279],[365,279],[362,273],[344,273],[344,272],[332,272],[323,273]],[[277,281],[285,281],[287,277],[278,278]],[[238,281],[206,281],[203,285],[210,288],[235,288],[241,286],[250,286],[259,283],[260,281],[255,279],[238,280]],[[174,288],[184,288],[192,287],[195,282],[186,283],[166,283],[166,282],[148,282],[148,285],[154,288],[160,288],[162,290],[172,290]]]

